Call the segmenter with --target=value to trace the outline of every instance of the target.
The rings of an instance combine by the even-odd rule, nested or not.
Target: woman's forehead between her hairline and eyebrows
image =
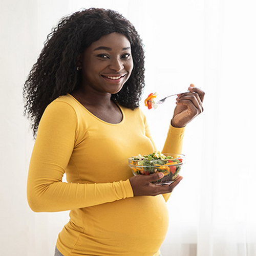
[[[131,48],[130,41],[126,36],[120,33],[111,33],[108,35],[103,35],[99,38],[99,40],[93,42],[89,48],[91,50],[95,50],[99,47],[108,47],[111,49],[123,49],[123,48]]]

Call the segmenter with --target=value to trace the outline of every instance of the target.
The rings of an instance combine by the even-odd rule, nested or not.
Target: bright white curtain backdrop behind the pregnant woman
[[[145,98],[206,92],[204,112],[187,125],[183,181],[168,201],[163,256],[256,255],[256,7],[244,0],[9,0],[1,7],[0,255],[53,255],[68,212],[34,213],[26,181],[33,147],[22,86],[58,20],[80,8],[115,9],[141,35]],[[147,110],[159,149],[175,99]]]

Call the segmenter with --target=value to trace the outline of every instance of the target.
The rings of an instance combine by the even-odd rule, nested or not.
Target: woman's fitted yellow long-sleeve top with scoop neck
[[[133,196],[127,159],[156,150],[141,110],[119,106],[112,124],[70,94],[50,103],[41,118],[28,175],[34,211],[70,211],[59,233],[65,256],[157,256],[168,227],[168,194]],[[170,126],[165,153],[181,153],[184,129]],[[67,181],[62,182],[66,173]]]

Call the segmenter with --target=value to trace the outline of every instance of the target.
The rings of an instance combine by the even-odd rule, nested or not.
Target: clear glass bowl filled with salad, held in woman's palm
[[[152,155],[152,154],[151,154]],[[182,154],[160,154],[165,159],[145,159],[145,156],[130,157],[128,159],[129,166],[134,175],[152,175],[155,173],[163,173],[164,177],[157,181],[153,181],[156,185],[167,185],[172,183],[179,175],[181,167],[185,163],[185,155]],[[147,155],[148,156],[148,155]]]

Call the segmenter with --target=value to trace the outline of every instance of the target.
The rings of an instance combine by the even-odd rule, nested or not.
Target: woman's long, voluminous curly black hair
[[[53,28],[24,84],[24,114],[32,121],[34,137],[47,105],[80,86],[78,56],[101,36],[113,32],[123,34],[130,41],[134,68],[125,86],[111,98],[126,108],[138,108],[145,86],[145,69],[143,44],[136,29],[116,11],[83,9],[63,17]]]

